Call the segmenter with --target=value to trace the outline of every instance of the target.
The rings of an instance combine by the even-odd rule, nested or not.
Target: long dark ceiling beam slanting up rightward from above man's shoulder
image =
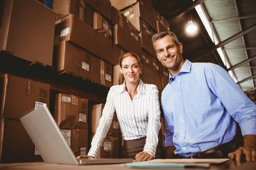
[[[252,26],[250,26],[250,27],[244,29],[243,31],[240,31],[239,33],[233,35],[232,37],[229,37],[228,39],[226,39],[226,40],[224,40],[224,41],[218,43],[217,45],[213,46],[212,48],[210,48],[209,50],[207,50],[207,51],[204,52],[203,54],[200,54],[200,53],[199,53],[199,54],[196,54],[196,55],[195,55],[196,61],[199,60],[199,59],[201,59],[201,58],[204,57],[205,55],[211,53],[212,51],[217,50],[217,48],[220,48],[220,47],[222,47],[222,46],[224,46],[224,45],[226,45],[226,44],[232,42],[233,40],[236,40],[236,39],[238,39],[239,37],[241,37],[241,36],[247,34],[248,32],[252,31],[252,30],[255,29],[255,28],[256,28],[256,23],[253,24]],[[199,56],[199,57],[196,57],[196,56]]]

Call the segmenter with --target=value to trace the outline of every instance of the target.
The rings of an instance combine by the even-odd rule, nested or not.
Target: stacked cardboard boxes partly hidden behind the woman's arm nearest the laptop
[[[91,107],[92,139],[96,133],[97,127],[99,126],[99,119],[102,116],[104,106],[105,105],[103,104],[99,104]],[[102,149],[98,158],[119,158],[119,133],[119,123],[116,113],[114,113],[110,129],[108,130],[107,136],[102,144]]]

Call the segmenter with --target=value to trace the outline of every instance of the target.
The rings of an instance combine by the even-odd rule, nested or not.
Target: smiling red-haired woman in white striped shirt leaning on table
[[[160,105],[156,85],[144,84],[140,79],[142,65],[134,53],[125,54],[120,61],[120,72],[125,81],[108,92],[99,127],[87,156],[97,158],[116,111],[124,139],[123,156],[137,161],[165,158],[163,142],[158,139],[161,128]]]

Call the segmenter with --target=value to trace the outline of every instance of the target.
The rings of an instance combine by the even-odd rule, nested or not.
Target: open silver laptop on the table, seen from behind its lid
[[[47,163],[79,165],[121,164],[133,161],[133,159],[77,159],[46,105],[23,116],[20,121]]]

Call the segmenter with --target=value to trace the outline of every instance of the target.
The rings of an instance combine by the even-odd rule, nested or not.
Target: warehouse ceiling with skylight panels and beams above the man
[[[209,20],[212,34],[216,35],[215,42],[212,42],[200,19],[201,16],[194,8],[199,3]],[[152,0],[152,6],[169,21],[170,31],[174,32],[183,44],[184,59],[221,65],[244,91],[256,87],[256,76],[253,77],[256,75],[255,0]],[[198,26],[195,35],[186,32],[189,20],[193,20]],[[248,32],[244,34],[244,30]],[[235,34],[240,36],[234,36]],[[230,37],[235,40],[221,45]],[[222,54],[213,51],[217,44],[221,45],[222,50],[219,50]],[[225,59],[222,60],[221,57]],[[247,59],[251,61],[239,64]]]

